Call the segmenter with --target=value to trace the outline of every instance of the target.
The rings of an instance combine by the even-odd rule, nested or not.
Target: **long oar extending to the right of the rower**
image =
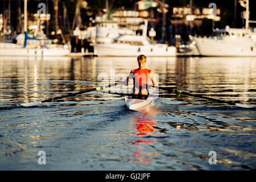
[[[175,94],[184,94],[184,95],[187,95],[187,96],[204,98],[204,99],[207,99],[207,100],[210,100],[210,101],[214,101],[214,102],[218,102],[218,103],[224,103],[224,104],[229,104],[229,105],[236,105],[238,107],[243,107],[243,108],[253,108],[253,107],[255,107],[255,106],[250,106],[250,105],[245,105],[245,104],[238,104],[238,103],[236,103],[234,101],[223,101],[223,100],[219,100],[219,99],[216,99],[216,98],[210,98],[210,97],[203,96],[201,94],[192,94],[192,93],[181,91],[181,90],[176,89],[176,88],[166,88],[166,87],[163,87],[163,86],[154,86],[154,88],[158,88],[158,89],[162,89],[162,90],[167,90],[168,92],[175,93]]]

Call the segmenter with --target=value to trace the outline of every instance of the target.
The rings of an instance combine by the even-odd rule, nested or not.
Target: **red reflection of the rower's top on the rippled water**
[[[133,115],[134,118],[132,125],[134,126],[135,132],[131,134],[136,135],[137,137],[143,137],[143,139],[133,140],[130,143],[138,146],[138,150],[134,151],[134,161],[138,164],[150,164],[153,155],[159,155],[157,152],[148,152],[141,146],[142,144],[152,144],[155,142],[155,139],[144,139],[149,135],[159,135],[160,133],[155,133],[155,125],[158,124],[154,120],[154,115],[158,113],[158,110],[154,108],[145,108],[139,110],[143,114],[143,118]]]

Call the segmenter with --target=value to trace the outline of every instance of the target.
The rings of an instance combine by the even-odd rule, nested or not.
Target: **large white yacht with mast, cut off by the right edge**
[[[256,30],[250,30],[249,0],[246,2],[246,27],[214,30],[209,38],[194,38],[201,56],[256,56]]]

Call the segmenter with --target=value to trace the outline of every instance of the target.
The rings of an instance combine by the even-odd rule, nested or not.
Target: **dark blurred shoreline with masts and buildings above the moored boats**
[[[181,44],[191,44],[189,36],[210,36],[216,28],[223,29],[227,26],[246,27],[245,2],[239,0],[28,0],[27,31],[31,36],[48,38],[54,40],[54,43],[69,43],[71,52],[81,52],[81,48],[93,52],[93,39],[97,43],[102,43],[106,42],[106,39],[101,39],[102,37],[113,39],[120,34],[142,35],[143,24],[147,20],[147,36],[151,38],[151,43],[160,42],[168,46],[176,46],[179,51]],[[44,3],[45,14],[39,15],[39,3]],[[215,15],[212,7],[209,7],[210,3],[216,4]],[[255,3],[250,1],[251,20],[256,19]],[[254,26],[254,23],[250,23],[250,27]],[[24,1],[1,1],[0,42],[19,43],[18,38],[14,36],[23,32]]]

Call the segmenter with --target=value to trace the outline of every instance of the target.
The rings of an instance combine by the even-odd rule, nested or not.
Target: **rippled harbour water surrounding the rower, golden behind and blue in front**
[[[256,105],[255,58],[154,57],[146,65],[160,85]],[[0,169],[256,169],[255,108],[163,91],[139,111],[98,92],[18,106],[94,88],[100,77],[125,77],[134,68],[136,57],[0,57]],[[46,165],[38,164],[39,151]],[[210,151],[217,164],[209,164]]]

